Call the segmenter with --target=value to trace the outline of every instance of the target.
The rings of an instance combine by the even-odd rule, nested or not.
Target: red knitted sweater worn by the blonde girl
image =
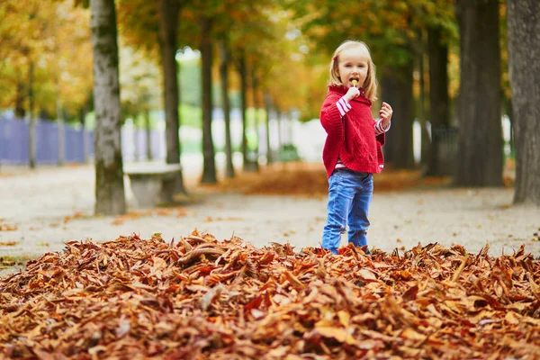
[[[362,93],[349,102],[351,109],[341,116],[338,100],[348,88],[330,85],[320,110],[320,123],[327,132],[322,161],[330,177],[338,158],[347,168],[363,173],[380,173],[384,166],[384,133],[375,137],[372,102]]]

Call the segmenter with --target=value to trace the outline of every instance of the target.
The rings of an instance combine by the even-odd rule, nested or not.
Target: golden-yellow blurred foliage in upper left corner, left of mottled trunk
[[[59,102],[75,117],[93,86],[90,12],[71,2],[7,0],[0,18],[0,108],[23,117],[30,103],[52,114]]]

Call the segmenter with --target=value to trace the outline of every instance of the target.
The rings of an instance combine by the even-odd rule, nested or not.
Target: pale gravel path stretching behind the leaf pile
[[[188,188],[200,168],[186,173]],[[191,176],[190,176],[191,175]],[[375,180],[376,186],[376,180]],[[540,255],[540,208],[510,206],[513,191],[442,189],[375,193],[370,246],[392,251],[439,242],[478,252],[486,244],[499,256],[521,244]],[[126,197],[135,209],[129,180]],[[126,218],[93,216],[94,166],[0,168],[0,257],[39,257],[71,240],[106,241],[138,233],[149,238],[187,236],[193,229],[218,239],[239,238],[263,247],[271,241],[317,247],[325,224],[326,199],[296,196],[195,193],[193,202],[172,209],[131,213]],[[344,237],[342,245],[347,242]],[[13,268],[0,269],[0,275]]]

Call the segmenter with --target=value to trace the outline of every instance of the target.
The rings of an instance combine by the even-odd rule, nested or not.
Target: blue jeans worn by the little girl
[[[367,245],[369,205],[374,193],[374,176],[349,169],[336,169],[329,178],[328,220],[322,232],[322,247],[338,254],[341,234],[348,224],[348,242]]]

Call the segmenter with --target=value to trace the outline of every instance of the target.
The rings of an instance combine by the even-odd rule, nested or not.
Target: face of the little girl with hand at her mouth
[[[341,83],[347,87],[352,87],[353,80],[357,80],[356,87],[362,87],[367,77],[369,69],[369,58],[365,49],[359,46],[344,49],[338,56],[338,74]]]

